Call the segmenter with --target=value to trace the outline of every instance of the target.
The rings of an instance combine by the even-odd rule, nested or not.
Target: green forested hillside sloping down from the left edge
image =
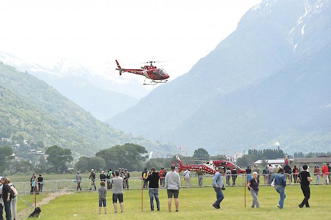
[[[136,143],[159,155],[174,146],[150,142],[115,129],[48,86],[42,80],[0,62],[0,137],[45,150],[58,145],[77,158],[118,144]],[[30,152],[25,146],[18,153]]]

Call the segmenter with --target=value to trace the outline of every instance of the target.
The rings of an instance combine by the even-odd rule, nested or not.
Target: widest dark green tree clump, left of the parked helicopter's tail
[[[95,155],[105,160],[106,168],[126,168],[130,171],[142,169],[142,164],[148,158],[147,150],[141,145],[126,143],[101,150]]]

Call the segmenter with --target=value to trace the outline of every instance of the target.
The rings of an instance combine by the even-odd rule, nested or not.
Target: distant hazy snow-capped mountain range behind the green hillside
[[[47,68],[22,61],[10,53],[0,52],[0,61],[44,80],[62,95],[102,121],[137,103],[137,98],[127,94],[134,94],[136,97],[147,94],[146,89],[138,81],[105,79],[69,59],[62,59],[56,65]],[[118,75],[116,76],[118,77]],[[102,85],[100,81],[102,81]],[[135,92],[131,93],[131,90]]]

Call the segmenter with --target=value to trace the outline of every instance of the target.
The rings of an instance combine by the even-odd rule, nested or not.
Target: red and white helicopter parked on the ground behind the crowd
[[[182,172],[182,170],[186,170],[186,169],[188,169],[189,171],[196,172],[197,170],[199,170],[199,168],[201,168],[204,173],[215,174],[216,168],[219,166],[224,167],[223,173],[225,173],[227,167],[230,167],[231,171],[233,170],[233,168],[236,168],[238,174],[246,173],[246,171],[242,170],[238,165],[233,164],[232,162],[229,162],[227,160],[209,160],[202,164],[184,165],[178,155],[176,155],[176,159],[179,163],[179,168],[177,167],[177,164],[174,161],[172,161],[172,163],[176,166],[178,173],[180,173],[180,172]]]

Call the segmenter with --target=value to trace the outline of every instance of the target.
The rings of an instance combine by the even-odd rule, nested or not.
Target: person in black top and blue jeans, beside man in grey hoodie
[[[158,173],[155,172],[155,170],[155,168],[152,168],[152,173],[148,173],[148,176],[146,178],[146,182],[149,182],[148,195],[151,203],[151,211],[154,211],[154,197],[156,201],[157,211],[160,210],[160,201],[158,199],[158,180],[160,179],[160,176]]]

